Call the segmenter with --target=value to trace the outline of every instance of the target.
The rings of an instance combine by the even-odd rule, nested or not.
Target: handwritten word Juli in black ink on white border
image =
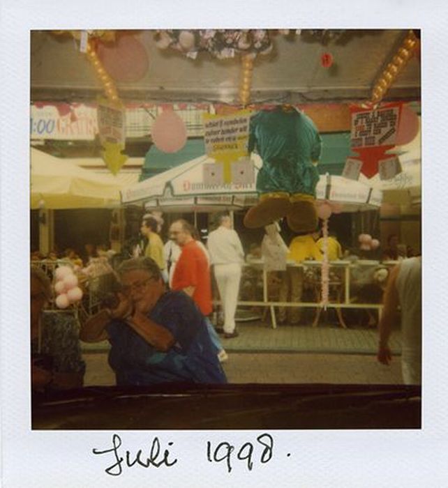
[[[172,442],[169,442],[168,445],[172,446]],[[108,453],[113,453],[114,455],[114,464],[111,464],[107,468],[105,468],[105,472],[111,476],[119,476],[123,473],[123,464],[125,467],[132,468],[135,464],[142,466],[143,468],[149,468],[150,466],[154,466],[155,468],[160,468],[161,466],[165,466],[169,468],[177,463],[177,459],[170,459],[170,451],[165,449],[163,452],[163,456],[159,459],[160,455],[160,441],[158,437],[154,437],[151,443],[151,449],[149,450],[149,457],[146,459],[142,459],[142,449],[137,451],[136,455],[133,455],[130,451],[126,450],[125,457],[126,462],[124,461],[124,457],[120,455],[119,449],[121,448],[121,437],[118,434],[114,434],[112,436],[112,448],[99,450],[99,449],[92,449],[92,452],[96,455],[103,455]]]

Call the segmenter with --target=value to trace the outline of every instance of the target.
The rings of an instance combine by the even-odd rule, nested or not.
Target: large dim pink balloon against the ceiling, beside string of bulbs
[[[99,43],[98,57],[117,82],[137,82],[146,75],[149,67],[146,49],[140,40],[129,34],[118,36],[115,43]]]

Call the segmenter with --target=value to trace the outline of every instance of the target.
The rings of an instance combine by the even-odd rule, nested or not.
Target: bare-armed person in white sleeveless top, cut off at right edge
[[[392,327],[401,308],[401,372],[406,385],[421,384],[421,257],[403,259],[391,270],[380,319],[378,360],[388,365]]]

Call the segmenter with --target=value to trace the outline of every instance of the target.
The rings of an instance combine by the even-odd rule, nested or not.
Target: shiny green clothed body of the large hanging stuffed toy
[[[249,153],[254,148],[263,165],[257,175],[260,193],[305,193],[315,197],[322,139],[313,121],[301,112],[281,107],[261,111],[251,119]]]

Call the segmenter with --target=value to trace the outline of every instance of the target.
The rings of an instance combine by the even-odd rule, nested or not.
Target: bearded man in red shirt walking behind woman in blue
[[[218,351],[221,361],[227,359],[227,354],[221,345],[214,326],[208,319],[213,311],[211,303],[211,277],[209,260],[204,250],[193,238],[194,227],[186,220],[176,220],[171,224],[170,235],[181,247],[181,255],[177,261],[172,277],[171,289],[182,290],[193,298],[199,310],[206,318],[211,340]]]

